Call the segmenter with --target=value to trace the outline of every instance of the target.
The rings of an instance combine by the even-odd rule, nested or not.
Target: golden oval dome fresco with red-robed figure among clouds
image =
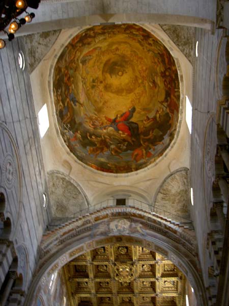
[[[176,64],[139,25],[97,25],[77,34],[55,64],[53,94],[66,145],[94,169],[145,168],[174,139],[180,106]]]

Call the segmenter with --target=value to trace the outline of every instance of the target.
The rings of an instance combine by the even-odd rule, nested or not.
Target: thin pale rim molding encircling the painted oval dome
[[[50,109],[51,109],[51,115],[52,115],[52,119],[53,119],[53,127],[54,127],[54,130],[55,130],[55,136],[56,136],[56,138],[58,138],[59,144],[62,146],[62,148],[64,149],[64,151],[66,152],[68,157],[71,159],[71,161],[76,163],[77,166],[79,165],[79,166],[83,167],[84,169],[89,170],[91,173],[95,173],[97,175],[109,176],[109,177],[133,177],[137,174],[142,174],[146,171],[152,170],[155,166],[157,166],[159,163],[161,163],[167,157],[169,152],[174,148],[174,146],[178,142],[178,138],[180,136],[180,131],[181,131],[181,125],[182,125],[182,122],[184,120],[184,110],[185,110],[185,108],[184,108],[184,104],[185,104],[185,101],[184,101],[184,99],[185,99],[184,73],[182,71],[182,67],[181,67],[179,58],[175,56],[176,52],[179,52],[181,55],[183,55],[182,52],[175,45],[175,43],[166,35],[166,33],[164,33],[164,31],[162,30],[160,25],[147,24],[147,23],[146,24],[145,23],[137,23],[137,22],[132,22],[132,23],[137,24],[137,25],[139,25],[139,27],[141,27],[141,28],[149,31],[150,33],[152,33],[167,48],[168,52],[171,54],[171,56],[173,57],[173,59],[176,63],[176,67],[177,67],[177,71],[178,71],[178,78],[179,78],[179,87],[180,87],[179,118],[178,118],[178,121],[177,121],[177,129],[176,129],[174,139],[171,141],[170,145],[167,147],[167,149],[164,151],[164,153],[162,154],[161,157],[159,157],[155,162],[146,166],[145,168],[142,168],[142,169],[139,169],[139,170],[136,170],[136,171],[127,172],[127,173],[109,173],[109,172],[105,172],[105,171],[96,170],[96,169],[88,166],[87,164],[84,164],[83,162],[78,160],[76,158],[76,156],[74,156],[73,153],[69,150],[69,148],[67,147],[66,143],[64,142],[64,140],[61,136],[61,132],[60,132],[60,129],[59,129],[59,126],[58,126],[58,120],[57,120],[57,117],[55,115],[54,95],[53,95],[53,74],[54,74],[54,68],[55,68],[56,62],[58,61],[61,53],[63,52],[63,49],[66,47],[66,45],[71,41],[71,39],[73,37],[75,37],[77,34],[79,34],[80,32],[82,32],[84,30],[92,28],[94,25],[86,25],[86,26],[77,27],[77,28],[75,28],[75,29],[77,29],[77,31],[73,31],[75,29],[71,29],[69,31],[67,30],[68,32],[70,32],[70,34],[67,36],[67,38],[62,39],[62,43],[59,45],[58,50],[56,50],[54,45],[52,46],[52,50],[54,50],[54,52],[53,52],[54,54],[52,53],[52,55],[51,55],[52,59],[50,61],[50,66],[49,66],[48,84],[47,85],[48,85],[48,92],[49,92],[49,97],[50,97],[49,106],[50,106]],[[157,26],[159,28],[157,28]],[[60,33],[60,35],[61,35],[61,33]],[[59,35],[59,38],[60,38],[60,35]],[[177,48],[177,50],[176,50],[176,48]]]

